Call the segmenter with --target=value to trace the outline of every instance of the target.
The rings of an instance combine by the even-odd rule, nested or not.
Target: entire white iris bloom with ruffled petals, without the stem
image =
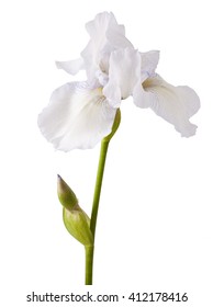
[[[76,75],[83,69],[87,80],[69,82],[55,90],[38,116],[38,126],[56,149],[92,148],[111,128],[121,101],[133,96],[138,107],[150,107],[183,137],[195,134],[189,118],[200,101],[189,87],[173,87],[155,70],[159,52],[139,53],[125,37],[112,13],[98,14],[87,23],[90,41],[81,57],[56,62]]]

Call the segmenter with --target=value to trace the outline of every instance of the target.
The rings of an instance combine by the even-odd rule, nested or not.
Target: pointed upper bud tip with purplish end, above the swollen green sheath
[[[71,211],[76,205],[78,205],[78,200],[75,193],[59,174],[57,181],[57,192],[61,205],[68,211]]]

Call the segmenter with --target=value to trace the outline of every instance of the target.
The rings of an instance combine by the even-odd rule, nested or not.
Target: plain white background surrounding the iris
[[[89,38],[85,23],[105,10],[125,25],[136,48],[160,50],[157,72],[175,86],[192,87],[202,107],[191,120],[199,126],[197,135],[186,139],[152,111],[135,107],[131,99],[123,102],[122,123],[107,161],[90,289],[123,295],[187,292],[189,302],[177,306],[212,306],[210,4],[208,0],[1,2],[1,306],[30,306],[25,296],[32,291],[88,289],[82,286],[83,248],[63,225],[56,174],[69,183],[89,214],[99,145],[57,152],[42,137],[36,121],[52,91],[75,79],[57,70],[54,61],[77,58]],[[130,302],[121,306],[125,304],[132,306]]]

